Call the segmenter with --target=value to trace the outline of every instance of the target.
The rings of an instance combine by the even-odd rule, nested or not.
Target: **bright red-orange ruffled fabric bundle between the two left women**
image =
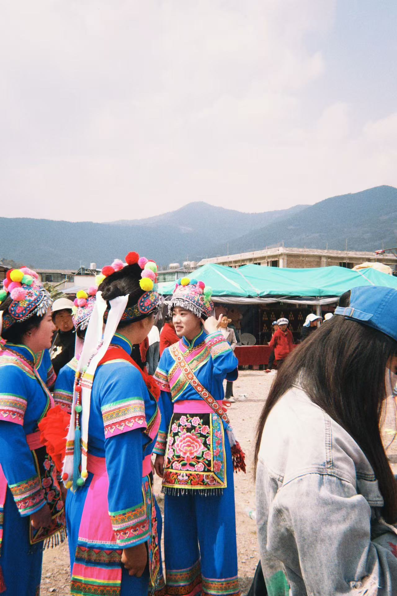
[[[49,409],[39,422],[40,440],[45,445],[48,455],[54,460],[58,472],[62,471],[69,424],[70,414],[59,405]]]

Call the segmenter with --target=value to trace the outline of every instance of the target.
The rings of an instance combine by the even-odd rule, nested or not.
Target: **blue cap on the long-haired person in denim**
[[[397,342],[397,290],[365,285],[351,290],[350,305],[337,306],[335,315],[382,331]]]

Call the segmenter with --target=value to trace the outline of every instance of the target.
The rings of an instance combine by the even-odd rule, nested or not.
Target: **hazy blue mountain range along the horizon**
[[[200,201],[147,219],[107,224],[0,218],[0,238],[0,257],[54,269],[78,269],[90,262],[102,266],[130,250],[161,266],[282,243],[345,250],[347,240],[348,250],[374,251],[396,245],[397,188],[380,186],[261,213]]]

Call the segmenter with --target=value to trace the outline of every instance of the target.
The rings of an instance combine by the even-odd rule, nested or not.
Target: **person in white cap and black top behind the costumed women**
[[[52,305],[52,321],[57,327],[57,334],[51,346],[51,361],[55,374],[58,374],[74,356],[74,333],[72,315],[73,302],[67,298],[58,298]]]

